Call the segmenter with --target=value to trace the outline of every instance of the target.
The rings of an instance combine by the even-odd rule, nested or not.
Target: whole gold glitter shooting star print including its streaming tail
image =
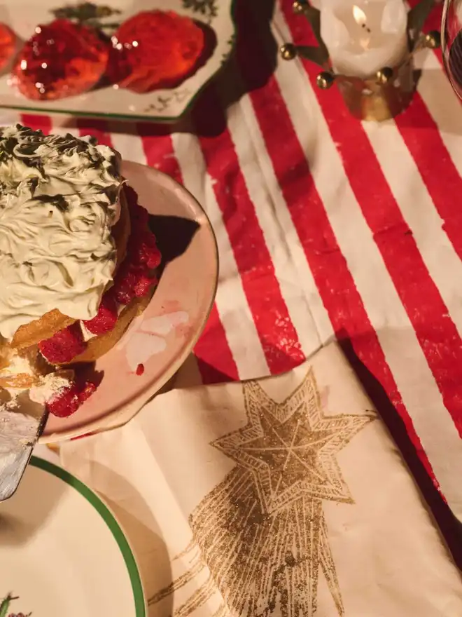
[[[375,416],[325,414],[312,369],[283,402],[256,382],[243,393],[246,426],[211,444],[237,465],[189,517],[188,571],[149,604],[200,577],[174,617],[217,598],[213,617],[312,617],[323,574],[342,616],[323,499],[353,503],[336,456]]]

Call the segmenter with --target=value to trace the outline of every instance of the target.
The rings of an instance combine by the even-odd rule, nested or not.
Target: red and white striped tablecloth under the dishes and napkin
[[[405,426],[409,461],[462,519],[458,99],[440,52],[428,51],[416,60],[423,72],[409,109],[383,124],[354,120],[337,88],[316,89],[314,65],[276,62],[281,43],[313,41],[290,0],[274,15],[271,5],[238,1],[235,62],[172,132],[1,119],[92,133],[183,182],[221,253],[216,303],[195,348],[204,382],[287,371],[337,337],[379,410],[391,409],[389,426]]]

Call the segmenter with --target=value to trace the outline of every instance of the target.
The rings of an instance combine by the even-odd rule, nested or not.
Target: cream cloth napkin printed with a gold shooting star
[[[461,576],[335,344],[174,390],[67,443],[137,553],[150,616],[459,617]]]

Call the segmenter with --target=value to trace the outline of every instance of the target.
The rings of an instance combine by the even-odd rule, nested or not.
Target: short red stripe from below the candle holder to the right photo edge
[[[462,211],[456,196],[462,194],[462,178],[422,98],[416,93],[412,104],[395,118],[402,139],[414,158],[443,229],[462,259]]]

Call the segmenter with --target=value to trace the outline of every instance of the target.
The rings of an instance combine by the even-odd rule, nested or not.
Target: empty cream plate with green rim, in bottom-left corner
[[[32,457],[0,503],[1,615],[146,617],[137,563],[120,525],[71,474]]]

